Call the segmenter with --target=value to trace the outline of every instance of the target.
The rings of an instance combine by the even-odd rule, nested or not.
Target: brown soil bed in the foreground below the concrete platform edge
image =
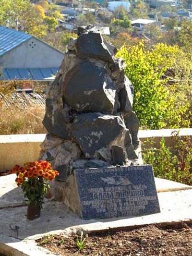
[[[83,250],[77,248],[80,236],[51,235],[37,240],[39,246],[61,256],[192,256],[192,224],[149,225],[131,231],[108,231],[85,236]]]

